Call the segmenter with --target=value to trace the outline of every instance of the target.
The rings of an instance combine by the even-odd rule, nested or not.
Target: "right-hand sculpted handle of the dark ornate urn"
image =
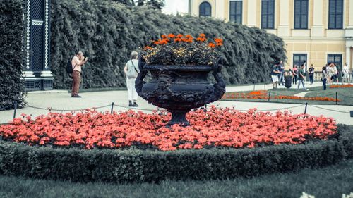
[[[225,94],[225,80],[222,78],[222,59],[217,58],[217,60],[213,63],[213,76],[217,83],[213,85],[215,90],[215,98],[220,99],[223,94]]]

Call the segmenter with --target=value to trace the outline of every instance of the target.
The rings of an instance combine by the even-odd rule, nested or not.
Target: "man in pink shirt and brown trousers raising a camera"
[[[82,71],[82,66],[87,63],[88,58],[83,56],[82,51],[78,51],[78,53],[73,56],[71,59],[71,65],[73,68],[73,73],[72,73],[72,88],[71,88],[71,97],[73,98],[80,98],[81,96],[78,95],[78,90],[80,89],[80,83],[81,83],[81,71]]]

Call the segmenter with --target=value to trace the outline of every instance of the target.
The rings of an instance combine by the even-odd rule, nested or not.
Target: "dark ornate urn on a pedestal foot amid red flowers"
[[[138,67],[141,72],[136,79],[136,91],[149,103],[172,113],[172,120],[167,126],[190,125],[186,113],[217,101],[225,93],[220,61],[213,66],[157,66],[147,65],[140,58]],[[143,79],[148,72],[152,80],[145,82]],[[208,82],[210,72],[217,82],[214,85]]]

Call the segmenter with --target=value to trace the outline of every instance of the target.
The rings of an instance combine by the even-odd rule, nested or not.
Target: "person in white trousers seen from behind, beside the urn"
[[[138,93],[135,88],[135,81],[138,73],[140,73],[137,51],[131,52],[131,60],[126,63],[124,73],[126,74],[126,87],[128,88],[128,106],[138,106]]]

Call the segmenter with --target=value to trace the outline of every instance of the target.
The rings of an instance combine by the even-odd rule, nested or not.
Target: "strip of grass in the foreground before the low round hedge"
[[[353,159],[320,169],[256,178],[152,183],[76,183],[0,175],[0,197],[342,197],[353,192]]]

